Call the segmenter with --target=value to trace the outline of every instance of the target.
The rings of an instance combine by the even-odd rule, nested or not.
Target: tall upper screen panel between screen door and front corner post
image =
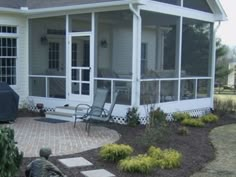
[[[97,77],[132,78],[132,19],[127,10],[97,14]]]

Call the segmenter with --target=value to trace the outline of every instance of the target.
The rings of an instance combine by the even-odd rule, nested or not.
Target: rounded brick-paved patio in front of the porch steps
[[[41,147],[50,147],[52,156],[74,154],[113,143],[119,134],[111,129],[92,126],[90,135],[85,132],[84,123],[46,123],[38,118],[17,118],[9,126],[15,130],[15,140],[24,152],[24,157],[37,157]]]

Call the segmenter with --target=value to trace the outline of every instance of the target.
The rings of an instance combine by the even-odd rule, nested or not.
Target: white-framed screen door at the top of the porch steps
[[[69,45],[69,97],[70,100],[90,101],[91,78],[91,35],[70,36]]]

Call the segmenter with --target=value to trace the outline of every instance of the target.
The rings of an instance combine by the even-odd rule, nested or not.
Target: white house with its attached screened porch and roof
[[[213,107],[219,0],[0,0],[0,81],[45,108],[120,94],[114,115]]]

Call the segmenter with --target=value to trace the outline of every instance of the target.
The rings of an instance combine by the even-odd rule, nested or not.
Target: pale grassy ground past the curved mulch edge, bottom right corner
[[[192,177],[236,177],[236,124],[213,129],[210,138],[216,159]]]

